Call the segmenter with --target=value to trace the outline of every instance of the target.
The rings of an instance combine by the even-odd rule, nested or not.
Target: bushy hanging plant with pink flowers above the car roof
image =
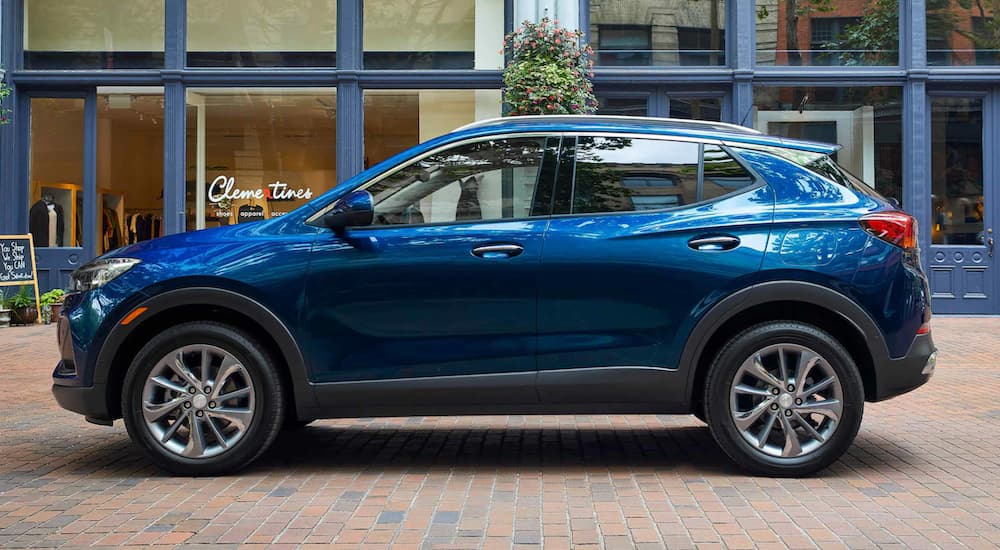
[[[559,27],[548,17],[525,21],[504,37],[504,103],[510,115],[591,114],[597,110],[594,50],[581,31]]]

